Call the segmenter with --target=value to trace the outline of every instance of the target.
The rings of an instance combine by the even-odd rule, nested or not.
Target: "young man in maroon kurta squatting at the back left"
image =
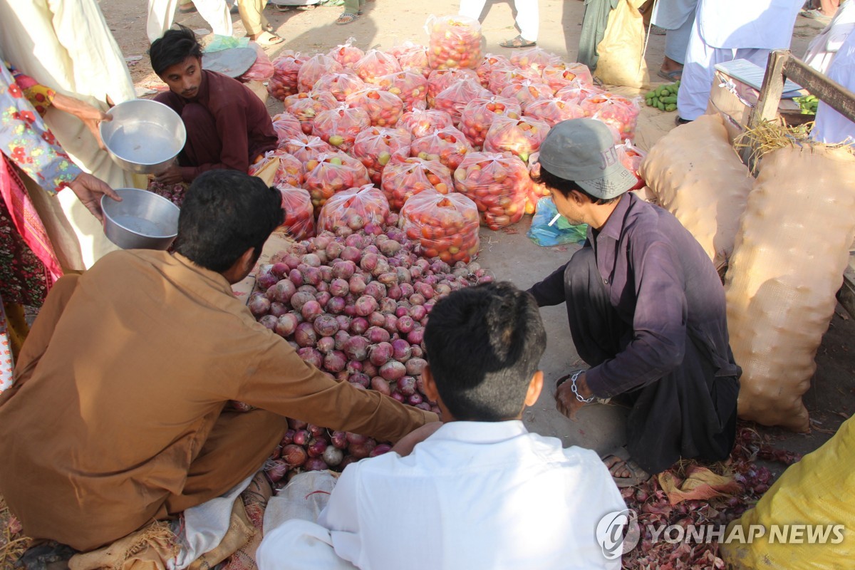
[[[155,179],[162,184],[192,182],[217,168],[247,172],[252,162],[276,148],[267,108],[239,81],[202,68],[202,46],[180,26],[156,39],[149,50],[151,67],[169,85],[155,97],[181,116],[187,142],[178,165]]]

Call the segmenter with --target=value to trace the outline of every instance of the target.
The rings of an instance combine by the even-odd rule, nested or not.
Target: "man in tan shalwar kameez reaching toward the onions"
[[[218,497],[262,466],[286,416],[392,441],[436,420],[304,363],[234,297],[280,200],[204,173],[174,254],[117,251],[56,283],[0,397],[0,494],[28,536],[91,550]]]

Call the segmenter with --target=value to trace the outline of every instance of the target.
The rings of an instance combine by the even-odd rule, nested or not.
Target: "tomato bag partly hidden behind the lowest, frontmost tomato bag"
[[[383,168],[380,188],[386,194],[389,207],[397,212],[404,207],[408,198],[421,191],[433,190],[448,194],[454,190],[454,182],[451,180],[451,171],[438,161],[394,155]]]

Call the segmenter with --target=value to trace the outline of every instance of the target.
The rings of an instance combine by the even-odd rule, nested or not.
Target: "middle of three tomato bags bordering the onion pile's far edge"
[[[363,185],[338,192],[327,200],[318,215],[318,228],[323,232],[335,232],[341,226],[352,231],[363,229],[366,224],[383,225],[389,215],[389,203],[380,188]]]

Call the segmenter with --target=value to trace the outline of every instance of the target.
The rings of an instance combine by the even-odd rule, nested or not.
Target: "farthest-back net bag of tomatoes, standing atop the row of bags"
[[[471,68],[481,62],[481,24],[466,16],[430,16],[425,24],[431,69]]]

